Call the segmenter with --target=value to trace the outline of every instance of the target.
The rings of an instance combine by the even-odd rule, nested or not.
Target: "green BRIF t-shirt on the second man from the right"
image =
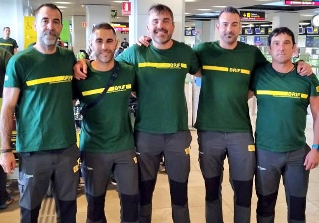
[[[234,50],[226,50],[218,41],[198,44],[193,50],[202,68],[194,126],[208,131],[251,131],[249,81],[252,71],[267,62],[261,51],[241,42]]]

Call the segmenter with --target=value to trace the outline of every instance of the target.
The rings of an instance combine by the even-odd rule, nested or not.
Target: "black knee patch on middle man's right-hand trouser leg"
[[[169,179],[172,204],[182,206],[187,203],[187,183],[188,180],[185,183],[180,183]]]

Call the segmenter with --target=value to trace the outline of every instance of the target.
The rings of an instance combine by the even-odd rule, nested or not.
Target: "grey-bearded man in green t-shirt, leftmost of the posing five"
[[[36,9],[37,42],[8,64],[0,115],[0,164],[15,168],[10,146],[13,114],[17,120],[19,190],[22,223],[36,223],[52,180],[61,223],[75,223],[79,181],[72,106],[72,51],[56,47],[62,13],[53,4]]]

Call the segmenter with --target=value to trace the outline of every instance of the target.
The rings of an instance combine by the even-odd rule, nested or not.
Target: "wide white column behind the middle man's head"
[[[130,46],[142,35],[148,35],[148,10],[158,0],[130,0],[132,2],[132,15],[130,21]],[[185,28],[185,0],[161,0],[161,4],[167,5],[173,12],[175,30],[172,39],[184,42]]]

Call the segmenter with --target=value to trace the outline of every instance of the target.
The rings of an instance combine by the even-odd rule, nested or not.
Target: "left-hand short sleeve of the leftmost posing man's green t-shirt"
[[[12,57],[7,65],[3,87],[16,87],[21,89],[23,86],[23,81],[23,68],[21,64],[14,57]]]

